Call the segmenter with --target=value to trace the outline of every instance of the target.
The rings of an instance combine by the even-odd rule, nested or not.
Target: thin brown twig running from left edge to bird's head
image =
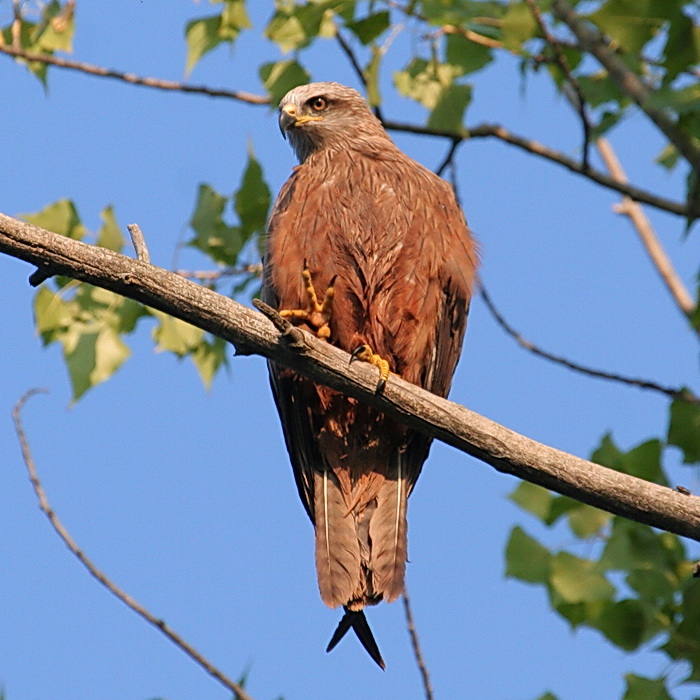
[[[248,104],[252,105],[270,104],[270,100],[267,96],[255,95],[251,92],[245,92],[243,90],[225,90],[223,88],[210,88],[205,85],[190,85],[189,83],[179,83],[174,80],[161,80],[160,78],[144,78],[138,75],[134,75],[133,73],[123,73],[122,71],[112,70],[110,68],[103,68],[102,66],[95,66],[90,63],[71,61],[66,58],[58,58],[57,56],[52,56],[50,54],[32,53],[31,51],[24,51],[23,49],[18,49],[2,44],[0,44],[0,53],[4,53],[7,56],[13,56],[14,58],[21,58],[25,61],[37,61],[39,63],[46,63],[48,65],[57,66],[59,68],[77,70],[81,73],[97,75],[103,78],[115,78],[116,80],[123,80],[126,83],[131,83],[132,85],[143,85],[145,87],[156,88],[158,90],[191,92],[200,95],[207,95],[209,97],[227,97],[232,100],[247,102]]]

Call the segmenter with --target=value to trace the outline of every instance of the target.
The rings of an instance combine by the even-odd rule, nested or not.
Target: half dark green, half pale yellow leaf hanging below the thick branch
[[[131,354],[119,335],[108,326],[81,333],[76,340],[70,350],[64,350],[73,385],[73,401],[109,379]]]

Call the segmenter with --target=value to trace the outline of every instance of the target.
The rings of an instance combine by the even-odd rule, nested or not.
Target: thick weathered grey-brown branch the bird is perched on
[[[0,214],[0,252],[88,282],[187,321],[490,464],[583,503],[700,541],[700,498],[548,447],[392,375],[375,394],[376,368],[304,333],[301,347],[262,315],[194,282]]]

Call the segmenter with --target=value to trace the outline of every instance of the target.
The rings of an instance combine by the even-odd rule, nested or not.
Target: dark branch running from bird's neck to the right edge
[[[428,126],[419,126],[417,124],[397,122],[389,119],[385,119],[383,123],[384,128],[388,129],[389,131],[401,131],[409,134],[426,134],[428,136],[437,136],[446,139],[467,140],[477,138],[497,138],[500,141],[504,141],[505,143],[515,146],[516,148],[526,151],[527,153],[540,156],[541,158],[545,158],[553,163],[557,163],[573,173],[583,175],[589,180],[592,180],[593,182],[596,182],[608,189],[615,190],[620,194],[627,195],[635,201],[642,202],[643,204],[648,204],[656,209],[663,209],[664,211],[668,211],[672,214],[678,214],[679,216],[686,218],[700,217],[700,206],[697,204],[674,202],[673,200],[665,199],[664,197],[659,197],[652,194],[651,192],[643,190],[640,187],[620,183],[606,173],[596,170],[595,168],[585,169],[580,162],[570,158],[566,154],[550,148],[549,146],[545,146],[538,141],[533,141],[532,139],[518,136],[500,124],[479,124],[468,128],[466,134],[459,134],[453,131],[445,131],[444,129],[433,129]]]

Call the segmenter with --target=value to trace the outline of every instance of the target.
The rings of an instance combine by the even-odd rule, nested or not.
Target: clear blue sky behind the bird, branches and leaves
[[[220,48],[191,80],[261,92],[257,66],[279,51],[255,27]],[[100,7],[98,7],[100,5]],[[75,57],[182,79],[183,27],[210,11],[189,2],[78,4]],[[10,3],[0,4],[6,24]],[[391,71],[415,37],[395,45],[383,69],[390,118],[424,113],[396,97]],[[332,41],[302,56],[316,80],[357,87]],[[0,210],[31,212],[75,200],[92,230],[113,204],[124,227],[143,229],[152,261],[173,265],[189,234],[197,186],[238,186],[252,144],[273,191],[294,165],[275,115],[227,100],[167,94],[54,69],[49,92],[7,58],[0,61],[4,167]],[[11,96],[10,99],[7,96]],[[545,76],[520,81],[502,57],[477,81],[468,124],[500,122],[572,155],[580,127]],[[446,145],[393,135],[428,167]],[[652,166],[663,146],[644,117],[611,135],[631,179],[680,199],[681,174]],[[466,144],[458,158],[469,222],[483,251],[482,276],[509,321],[541,346],[593,366],[669,385],[694,384],[697,349],[651,268],[617,197],[495,140]],[[689,287],[697,234],[648,212]],[[178,265],[202,259],[180,251]],[[226,697],[226,691],[102,589],[51,532],[20,460],[10,411],[45,386],[25,425],[53,506],[83,550],[155,615],[230,676],[250,670],[256,700],[420,698],[400,604],[370,612],[388,664],[382,673],[354,639],[325,645],[339,618],[321,602],[311,526],[298,501],[261,358],[231,358],[206,392],[187,362],[156,354],[147,324],[132,358],[107,384],[69,408],[60,352],[33,329],[31,268],[0,257],[0,686],[9,700]],[[665,433],[658,395],[587,379],[520,350],[474,302],[451,397],[539,441],[588,457],[606,431],[621,447]],[[678,483],[695,472],[674,463]],[[621,695],[622,675],[656,675],[663,659],[628,656],[590,631],[572,633],[542,590],[504,578],[515,524],[567,546],[566,530],[543,533],[504,496],[517,482],[441,444],[411,498],[407,584],[438,698],[562,700]],[[691,546],[697,556],[697,547]],[[579,552],[585,555],[585,551]],[[678,677],[678,676],[676,676]]]

